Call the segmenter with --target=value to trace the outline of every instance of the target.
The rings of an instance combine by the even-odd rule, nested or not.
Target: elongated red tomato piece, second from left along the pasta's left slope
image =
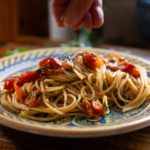
[[[23,85],[24,83],[31,82],[39,78],[40,73],[37,71],[27,71],[24,73],[21,73],[20,75],[20,83]]]

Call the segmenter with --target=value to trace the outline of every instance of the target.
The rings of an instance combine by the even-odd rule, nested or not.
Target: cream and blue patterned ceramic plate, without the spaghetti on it
[[[9,76],[37,67],[37,62],[47,56],[59,57],[64,54],[72,55],[83,48],[49,48],[29,51],[0,59],[0,82]],[[85,50],[85,48],[84,48]],[[103,55],[114,51],[104,49],[86,48]],[[121,53],[131,62],[141,65],[150,72],[150,62],[142,58]],[[17,130],[57,137],[97,137],[120,134],[150,126],[150,108],[142,107],[122,113],[117,109],[111,109],[111,113],[102,117],[99,121],[91,121],[84,118],[65,118],[51,122],[36,122],[21,118],[0,105],[0,124]]]

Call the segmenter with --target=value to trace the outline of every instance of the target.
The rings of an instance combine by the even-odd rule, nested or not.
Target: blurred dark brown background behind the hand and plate
[[[49,3],[50,0],[0,0],[0,47],[150,47],[150,0],[104,0],[104,26],[78,31],[59,28]]]

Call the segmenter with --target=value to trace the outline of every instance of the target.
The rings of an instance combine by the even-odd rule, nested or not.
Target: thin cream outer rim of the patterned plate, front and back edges
[[[36,53],[38,51],[44,50],[44,51],[52,51],[52,50],[58,50],[61,49],[61,51],[63,50],[67,50],[68,49],[73,49],[75,51],[77,50],[91,50],[91,51],[95,51],[95,50],[100,50],[100,51],[105,51],[106,53],[114,53],[115,50],[110,50],[110,49],[105,49],[105,48],[80,48],[80,47],[52,47],[52,48],[39,48],[39,49],[35,49],[35,50],[29,50],[28,52],[23,52],[20,54],[14,54],[11,56],[6,56],[3,58],[0,58],[0,62],[2,60],[7,60],[9,58],[12,57],[16,57],[16,56],[22,56],[23,54],[28,54],[28,53]],[[118,51],[117,51],[118,52]],[[129,58],[137,58],[138,60],[146,63],[147,65],[150,65],[150,61],[141,58],[139,56],[135,56],[132,54],[126,54],[125,52],[118,52],[121,55],[127,56]],[[150,126],[150,115],[138,119],[138,120],[134,120],[131,122],[127,122],[127,123],[123,123],[123,124],[115,124],[112,126],[93,126],[93,127],[54,127],[50,124],[50,126],[41,126],[38,124],[29,124],[29,123],[24,123],[18,120],[15,120],[13,118],[9,118],[7,116],[4,116],[2,114],[0,114],[0,124],[16,129],[16,130],[20,130],[20,131],[24,131],[24,132],[28,132],[28,133],[34,133],[34,134],[39,134],[39,135],[46,135],[46,136],[55,136],[55,137],[101,137],[101,136],[109,136],[109,135],[116,135],[116,134],[121,134],[121,133],[127,133],[127,132],[131,132],[131,131],[135,131],[141,128],[145,128]],[[22,127],[22,128],[19,128]],[[30,129],[29,129],[30,128]],[[70,130],[71,129],[71,130]]]

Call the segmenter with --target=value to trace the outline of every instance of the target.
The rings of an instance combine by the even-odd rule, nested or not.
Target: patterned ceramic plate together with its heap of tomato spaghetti
[[[0,59],[0,123],[58,137],[150,125],[150,62],[96,48],[48,48]]]

